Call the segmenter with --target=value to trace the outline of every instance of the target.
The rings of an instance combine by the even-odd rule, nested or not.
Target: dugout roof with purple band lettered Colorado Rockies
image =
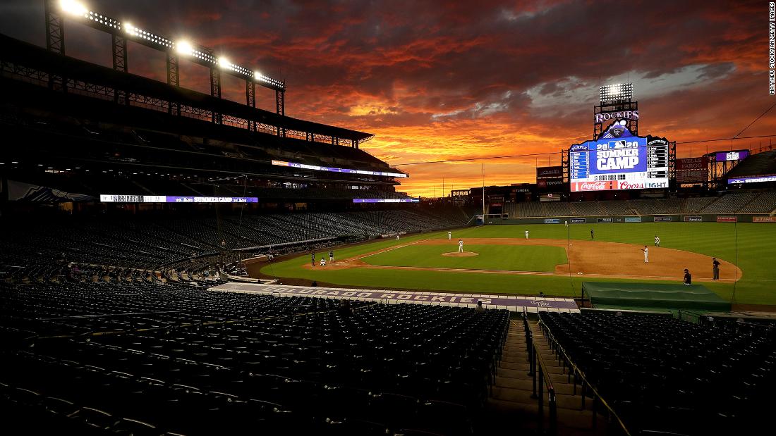
[[[349,300],[387,302],[388,304],[411,303],[456,307],[476,307],[477,301],[490,309],[507,309],[513,312],[574,312],[579,313],[577,304],[571,298],[521,297],[515,295],[452,294],[445,292],[417,292],[410,290],[367,290],[339,287],[300,287],[289,285],[268,285],[260,283],[224,283],[210,290],[222,292],[244,292],[248,294],[279,294],[281,297],[309,295],[323,298],[347,298]]]

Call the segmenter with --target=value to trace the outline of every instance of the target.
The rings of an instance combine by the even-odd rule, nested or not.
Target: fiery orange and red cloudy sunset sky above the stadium
[[[639,133],[677,142],[733,137],[776,102],[761,1],[83,3],[285,80],[286,115],[374,134],[362,148],[410,173],[398,189],[412,195],[441,194],[443,178],[445,191],[480,186],[482,163],[488,185],[535,181],[537,164],[591,139],[599,84],[632,81]],[[66,30],[69,55],[110,66],[106,33]],[[43,0],[0,3],[0,33],[45,46]],[[129,64],[165,79],[161,52],[130,44]],[[209,91],[206,68],[184,62],[181,75]],[[237,78],[223,86],[243,101]],[[258,97],[274,110],[273,91]],[[776,109],[741,136],[770,134]],[[769,141],[680,143],[677,155]]]

